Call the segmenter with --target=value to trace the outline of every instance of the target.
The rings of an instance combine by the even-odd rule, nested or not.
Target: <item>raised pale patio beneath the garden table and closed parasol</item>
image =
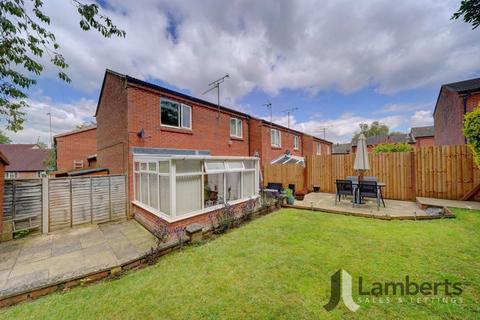
[[[303,201],[295,200],[294,206],[307,209],[314,208],[333,213],[352,214],[365,217],[383,219],[428,219],[438,217],[438,214],[430,210],[422,210],[413,201],[399,201],[385,199],[385,208],[380,206],[377,211],[375,199],[365,199],[363,205],[352,206],[351,198],[343,199],[335,205],[333,193],[309,193]]]

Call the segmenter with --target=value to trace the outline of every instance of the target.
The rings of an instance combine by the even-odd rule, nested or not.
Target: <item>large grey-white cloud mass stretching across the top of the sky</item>
[[[200,94],[225,73],[224,101],[258,87],[383,93],[438,86],[480,69],[480,33],[450,16],[458,1],[120,1],[105,14],[127,37],[83,32],[69,1],[45,4],[73,85],[105,68]],[[167,32],[174,26],[176,38]],[[54,73],[51,72],[54,76]],[[207,98],[214,99],[214,95]]]

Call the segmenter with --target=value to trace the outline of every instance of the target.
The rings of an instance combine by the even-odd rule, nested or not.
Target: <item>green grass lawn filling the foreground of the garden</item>
[[[281,210],[156,265],[0,310],[0,319],[480,318],[480,212],[381,221]],[[323,309],[339,268],[365,282],[462,282],[463,303]],[[354,293],[354,297],[358,297]]]

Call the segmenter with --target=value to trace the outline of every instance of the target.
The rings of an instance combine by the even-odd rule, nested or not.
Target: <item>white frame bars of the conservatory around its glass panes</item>
[[[176,170],[176,162],[178,160],[200,160],[201,161],[201,170],[195,172],[188,172],[188,173],[177,173]],[[252,168],[246,168],[245,164],[253,163]],[[160,172],[160,165],[159,162],[166,162],[168,163],[169,172]],[[223,162],[224,168],[223,169],[212,169],[208,168],[208,163],[210,162]],[[138,165],[137,165],[138,163]],[[155,167],[156,170],[149,170],[149,164],[156,163]],[[241,166],[239,164],[241,163]],[[235,168],[230,168],[229,164],[233,166],[236,164]],[[165,169],[165,168],[164,168]],[[224,206],[224,202],[215,204],[212,206],[205,206],[205,195],[204,195],[204,188],[205,188],[205,176],[206,175],[215,175],[215,174],[223,174],[223,196],[227,194],[227,174],[228,173],[236,173],[239,172],[240,176],[240,197],[236,200],[228,201],[228,204],[235,205],[238,203],[242,203],[248,201],[249,199],[254,199],[259,197],[260,192],[260,163],[258,157],[226,157],[226,156],[200,156],[200,155],[191,155],[191,156],[183,156],[183,155],[161,155],[161,154],[134,154],[133,156],[133,192],[134,198],[132,203],[144,210],[151,212],[152,214],[166,220],[167,222],[175,222],[179,220],[183,220],[186,218],[194,217],[197,215],[205,214],[207,212],[215,211],[221,209]],[[244,174],[245,172],[254,172],[254,179],[253,179],[253,194],[252,195],[244,195]],[[150,174],[157,175],[157,191],[158,191],[158,198],[157,198],[157,208],[154,208],[147,203],[141,201],[141,195],[137,194],[140,191],[142,193],[142,174],[147,174],[148,179],[150,179]],[[188,213],[177,214],[177,178],[178,177],[187,177],[187,176],[201,176],[201,209],[191,211]],[[168,185],[169,185],[169,193],[167,198],[169,199],[169,209],[170,213],[162,212],[160,208],[161,205],[161,188],[160,188],[160,180],[161,177],[168,177]],[[250,176],[251,178],[251,176]],[[137,179],[139,179],[139,186],[137,191]],[[150,183],[147,182],[147,202],[151,203],[150,201]],[[187,195],[188,196],[188,195]]]

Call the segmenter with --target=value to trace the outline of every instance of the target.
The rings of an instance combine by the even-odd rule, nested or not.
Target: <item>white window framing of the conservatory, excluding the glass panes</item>
[[[169,161],[169,173],[159,173],[159,165],[158,161]],[[201,172],[194,172],[194,173],[176,173],[176,161],[178,160],[202,160],[202,169]],[[141,173],[152,173],[152,171],[149,171],[148,169],[148,163],[149,162],[157,162],[157,174],[159,176],[169,176],[169,201],[170,201],[170,214],[167,214],[165,212],[161,212],[159,209],[152,208],[148,204],[143,203],[141,201],[141,194],[137,195],[137,190],[136,190],[136,174],[138,174],[138,177],[140,179],[140,185],[139,185],[139,192],[142,192],[142,178],[141,178]],[[207,161],[219,161],[224,163],[224,169],[221,170],[207,170],[205,163]],[[245,163],[243,161],[254,161],[254,166],[253,168],[247,169],[245,167]],[[138,162],[138,170],[135,168],[135,163]],[[232,162],[240,162],[242,163],[241,167],[233,167],[230,168],[229,163]],[[142,163],[146,163],[146,168],[142,169]],[[204,199],[204,184],[205,184],[205,175],[210,175],[210,174],[223,174],[223,195],[224,198],[227,195],[227,174],[228,173],[234,173],[234,172],[239,172],[241,173],[240,175],[240,198],[236,200],[231,200],[228,201],[228,204],[234,205],[238,204],[241,202],[248,201],[249,199],[252,198],[258,198],[259,197],[259,184],[260,184],[260,173],[259,173],[260,165],[259,165],[259,159],[256,157],[202,157],[202,156],[188,156],[188,157],[181,157],[181,156],[172,156],[170,158],[165,158],[165,157],[155,157],[152,155],[135,155],[134,160],[133,160],[133,191],[134,191],[134,200],[132,201],[135,205],[151,212],[152,214],[168,221],[168,222],[175,222],[179,220],[183,220],[186,218],[190,218],[196,215],[204,214],[210,211],[215,211],[218,209],[221,209],[224,205],[224,203],[221,204],[216,204],[210,207],[205,206],[205,199]],[[255,172],[254,174],[254,194],[247,196],[244,195],[244,173],[245,172]],[[182,215],[177,214],[176,210],[176,178],[180,176],[201,176],[201,209],[184,213]],[[161,202],[160,202],[160,177],[157,179],[158,182],[158,207],[161,208]],[[147,181],[147,194],[150,195],[150,185]],[[138,199],[138,200],[136,200]],[[147,200],[148,202],[148,200]]]

